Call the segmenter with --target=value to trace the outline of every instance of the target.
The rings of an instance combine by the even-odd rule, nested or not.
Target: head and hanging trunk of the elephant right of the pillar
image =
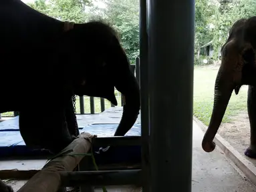
[[[211,152],[215,149],[213,139],[233,90],[238,94],[242,85],[256,85],[255,47],[256,17],[235,22],[221,49],[221,67],[215,80],[213,113],[202,142],[204,151]]]

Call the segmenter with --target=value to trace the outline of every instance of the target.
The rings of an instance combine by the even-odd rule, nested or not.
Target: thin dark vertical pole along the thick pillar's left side
[[[140,0],[140,99],[141,140],[142,140],[142,190],[149,192],[149,127],[148,127],[148,33],[146,0]]]

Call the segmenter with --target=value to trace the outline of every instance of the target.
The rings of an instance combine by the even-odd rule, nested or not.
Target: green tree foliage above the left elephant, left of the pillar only
[[[139,1],[106,0],[104,3],[105,8],[93,6],[91,0],[35,0],[27,4],[61,21],[108,21],[120,34],[122,46],[131,63],[135,63],[135,57],[139,55]]]

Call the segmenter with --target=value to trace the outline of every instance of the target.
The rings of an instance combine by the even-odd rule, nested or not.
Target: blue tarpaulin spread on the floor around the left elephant
[[[19,117],[9,119],[0,123],[0,157],[8,156],[38,156],[49,155],[48,151],[41,149],[30,149],[26,147],[21,133],[19,132]],[[140,123],[134,124],[126,136],[140,136]],[[112,137],[118,127],[117,123],[98,123],[87,125],[80,128],[80,133],[87,132],[98,137]],[[35,126],[36,129],[36,126]],[[102,146],[103,148],[108,146]],[[93,148],[99,151],[99,148]],[[110,147],[106,152],[94,154],[98,163],[119,163],[119,162],[138,162],[140,161],[140,146]]]

